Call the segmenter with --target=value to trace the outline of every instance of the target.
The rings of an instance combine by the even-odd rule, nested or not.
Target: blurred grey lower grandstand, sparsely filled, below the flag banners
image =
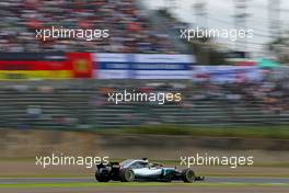
[[[115,128],[136,125],[286,125],[288,78],[218,84],[188,81],[70,80],[1,83],[1,127]],[[107,102],[107,92],[183,93],[182,103]]]

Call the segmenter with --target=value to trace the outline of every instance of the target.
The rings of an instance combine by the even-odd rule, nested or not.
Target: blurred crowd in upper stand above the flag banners
[[[109,30],[93,42],[36,39],[36,30]],[[0,52],[174,53],[136,0],[5,0],[0,2]]]

